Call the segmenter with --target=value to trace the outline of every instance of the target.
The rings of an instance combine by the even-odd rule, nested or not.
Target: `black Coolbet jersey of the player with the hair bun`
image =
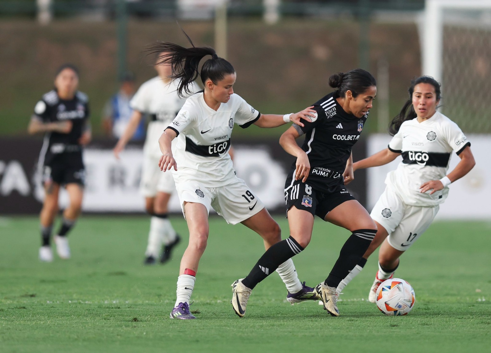
[[[327,94],[313,104],[317,118],[310,122],[302,120],[301,127],[293,124],[300,135],[305,134],[302,149],[310,162],[306,183],[319,191],[331,192],[344,184],[343,172],[350,158],[351,148],[358,141],[368,113],[356,118],[346,113],[336,98],[337,91]],[[285,190],[295,181],[295,162],[285,184]]]

